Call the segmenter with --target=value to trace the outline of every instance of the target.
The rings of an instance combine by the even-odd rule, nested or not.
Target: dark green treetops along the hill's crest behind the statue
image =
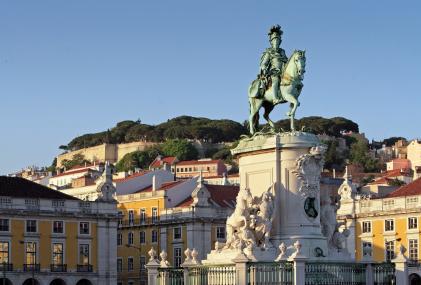
[[[276,123],[277,129],[289,130],[289,120]],[[296,122],[297,128],[316,134],[340,136],[341,131],[358,132],[358,125],[351,120],[335,117],[304,117]],[[247,134],[246,123],[232,120],[212,120],[201,117],[180,116],[158,125],[142,124],[138,121],[122,121],[111,129],[99,133],[85,134],[72,139],[63,150],[78,150],[103,143],[129,143],[139,140],[163,142],[169,139],[192,139],[211,143],[234,142]]]

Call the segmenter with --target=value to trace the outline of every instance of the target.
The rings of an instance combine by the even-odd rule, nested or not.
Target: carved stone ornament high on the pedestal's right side
[[[303,197],[314,198],[320,190],[320,173],[323,170],[323,155],[326,152],[324,145],[312,147],[309,153],[298,157],[295,174],[300,180],[298,192]]]

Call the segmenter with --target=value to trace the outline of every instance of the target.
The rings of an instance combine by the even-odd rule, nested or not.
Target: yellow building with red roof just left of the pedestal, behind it
[[[225,242],[225,221],[237,193],[237,186],[204,185],[195,178],[117,196],[117,284],[147,284],[144,265],[152,247],[157,253],[166,251],[175,267],[184,260],[187,248],[206,257],[216,241]],[[197,199],[199,196],[206,201]],[[232,207],[218,204],[223,196]]]

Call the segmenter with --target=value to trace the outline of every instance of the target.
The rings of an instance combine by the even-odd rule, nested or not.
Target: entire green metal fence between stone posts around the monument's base
[[[294,272],[294,263],[249,262],[244,278],[246,285],[293,285],[294,276],[304,277],[305,285],[394,285],[395,264],[390,262],[305,262],[301,273]],[[193,265],[184,268],[158,268],[157,285],[236,285],[241,279],[235,264]],[[241,275],[241,274],[240,274]],[[368,277],[371,276],[371,277]],[[373,282],[373,283],[371,283]],[[301,283],[300,283],[301,284]]]

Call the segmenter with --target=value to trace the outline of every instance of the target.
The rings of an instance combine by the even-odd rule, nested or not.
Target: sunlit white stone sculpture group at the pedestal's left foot
[[[249,189],[240,190],[237,204],[227,219],[227,242],[224,249],[268,249],[272,230],[274,196],[272,187],[260,197],[253,197]]]

